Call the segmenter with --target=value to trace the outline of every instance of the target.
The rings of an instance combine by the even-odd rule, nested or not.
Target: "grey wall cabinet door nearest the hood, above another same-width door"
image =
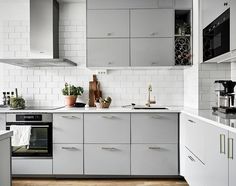
[[[129,37],[128,10],[88,10],[88,37]]]

